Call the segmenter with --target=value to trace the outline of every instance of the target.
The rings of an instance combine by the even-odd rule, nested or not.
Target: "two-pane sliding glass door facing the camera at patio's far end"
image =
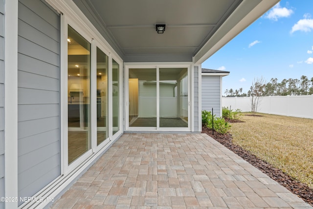
[[[188,68],[130,68],[128,127],[188,128]]]

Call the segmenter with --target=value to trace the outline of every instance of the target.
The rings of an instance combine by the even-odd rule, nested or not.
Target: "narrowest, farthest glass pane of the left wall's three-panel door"
[[[119,131],[119,65],[112,60],[112,116],[113,135]]]

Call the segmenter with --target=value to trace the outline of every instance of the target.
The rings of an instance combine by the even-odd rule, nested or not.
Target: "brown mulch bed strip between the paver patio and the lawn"
[[[252,164],[254,167],[261,170],[263,173],[267,174],[270,178],[278,182],[280,185],[285,186],[293,194],[302,198],[305,202],[313,206],[313,189],[306,184],[303,184],[295,179],[292,179],[289,175],[284,173],[278,168],[273,167],[271,164],[259,159],[249,151],[243,149],[242,147],[232,143],[231,134],[219,134],[214,132],[212,135],[212,130],[205,126],[202,126],[202,133],[205,133],[217,140],[225,147],[245,159],[248,163]]]

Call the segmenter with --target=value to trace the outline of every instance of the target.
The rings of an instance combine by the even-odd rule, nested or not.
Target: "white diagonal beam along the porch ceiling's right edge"
[[[243,0],[195,55],[195,64],[203,63],[279,1],[280,0]]]

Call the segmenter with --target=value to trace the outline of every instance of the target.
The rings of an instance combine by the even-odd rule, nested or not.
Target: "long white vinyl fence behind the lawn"
[[[242,112],[251,111],[250,97],[223,97],[222,107]],[[281,116],[313,118],[313,94],[302,96],[265,96],[260,97],[258,113]]]

